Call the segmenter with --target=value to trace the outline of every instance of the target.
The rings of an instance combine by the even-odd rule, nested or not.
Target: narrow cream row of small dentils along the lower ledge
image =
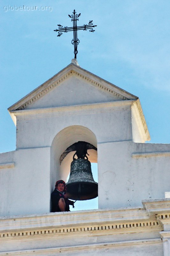
[[[34,236],[51,236],[51,235],[66,235],[66,234],[75,234],[75,233],[87,233],[85,235],[91,236],[96,235],[109,235],[109,234],[127,234],[134,232],[148,232],[148,231],[161,231],[162,226],[158,221],[138,221],[138,222],[121,222],[117,224],[105,224],[103,225],[84,225],[73,226],[73,227],[60,227],[60,228],[46,228],[46,229],[34,229],[34,230],[22,230],[22,231],[11,231],[11,232],[2,232],[0,233],[0,238],[11,238],[11,237],[31,237]]]

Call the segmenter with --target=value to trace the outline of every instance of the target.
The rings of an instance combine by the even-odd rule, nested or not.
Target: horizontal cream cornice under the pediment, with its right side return
[[[73,106],[64,106],[64,107],[52,107],[52,108],[35,108],[35,109],[23,109],[23,110],[13,110],[10,112],[10,115],[16,125],[16,116],[20,119],[23,118],[40,118],[40,117],[48,117],[48,116],[56,116],[63,115],[66,113],[79,113],[81,111],[81,115],[90,114],[103,111],[108,111],[114,109],[121,109],[123,107],[132,106],[134,111],[135,118],[137,119],[138,129],[141,133],[141,137],[143,138],[143,142],[146,140],[150,140],[150,135],[147,129],[147,125],[144,119],[144,115],[142,112],[142,108],[139,100],[118,100],[112,102],[101,102],[101,103],[92,103],[92,104],[82,104],[82,105],[73,105]]]

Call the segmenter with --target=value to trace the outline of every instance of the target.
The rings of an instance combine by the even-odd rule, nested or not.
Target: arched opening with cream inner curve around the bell
[[[75,151],[68,152],[67,149],[70,148],[74,143],[78,141],[85,141],[91,145],[91,148],[87,150],[89,156],[89,161],[92,164],[92,173],[94,176],[97,175],[97,140],[96,136],[88,128],[74,125],[69,126],[59,132],[51,146],[51,167],[50,167],[50,184],[51,192],[54,190],[56,180],[67,181],[70,174],[70,164],[73,159]],[[96,148],[96,149],[95,149]],[[98,179],[95,179],[95,181]],[[94,199],[92,199],[94,200]],[[95,198],[94,202],[92,200],[87,201],[77,201],[75,203],[75,208],[73,210],[85,210],[98,208],[98,197]],[[90,207],[91,205],[91,207]],[[72,207],[70,207],[72,208]],[[72,209],[70,209],[72,210]]]

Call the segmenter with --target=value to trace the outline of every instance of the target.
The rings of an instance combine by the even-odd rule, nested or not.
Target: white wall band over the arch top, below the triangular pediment
[[[122,106],[121,102],[120,106],[113,104],[48,108],[41,113],[36,109],[20,110],[17,115],[17,148],[51,146],[58,132],[73,125],[88,128],[99,142],[132,140],[130,106]]]

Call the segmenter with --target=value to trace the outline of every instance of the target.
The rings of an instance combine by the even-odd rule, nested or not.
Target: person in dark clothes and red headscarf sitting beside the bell
[[[68,199],[67,187],[63,180],[57,180],[51,193],[52,212],[70,212],[69,205],[74,208],[74,202]]]

